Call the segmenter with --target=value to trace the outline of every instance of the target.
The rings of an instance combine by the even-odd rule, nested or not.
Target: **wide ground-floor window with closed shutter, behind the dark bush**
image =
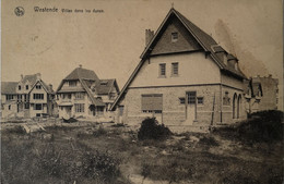
[[[163,110],[163,95],[149,94],[142,95],[142,111],[162,111]]]

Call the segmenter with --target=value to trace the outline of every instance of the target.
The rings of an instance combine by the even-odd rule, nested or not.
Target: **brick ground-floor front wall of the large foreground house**
[[[138,125],[151,113],[141,110],[142,94],[163,94],[163,123],[166,125],[182,125],[186,122],[186,105],[180,105],[179,97],[186,97],[186,91],[196,90],[197,97],[203,97],[204,103],[197,106],[197,121],[194,124],[210,125],[215,96],[214,121],[220,121],[220,85],[200,85],[188,87],[155,87],[155,88],[129,88],[123,105],[125,123]]]

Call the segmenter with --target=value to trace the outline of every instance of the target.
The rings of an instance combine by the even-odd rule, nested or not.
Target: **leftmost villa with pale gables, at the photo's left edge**
[[[13,89],[13,98],[2,87],[1,94],[5,96],[2,102],[13,102],[13,115],[20,118],[34,118],[56,115],[55,93],[51,85],[46,85],[39,73],[33,75],[21,75],[21,81],[9,83]],[[13,84],[13,85],[12,85]],[[2,84],[2,86],[4,86]],[[14,107],[15,106],[15,107]],[[7,109],[7,108],[4,108]],[[9,109],[9,108],[8,108]],[[2,118],[9,118],[2,111]]]

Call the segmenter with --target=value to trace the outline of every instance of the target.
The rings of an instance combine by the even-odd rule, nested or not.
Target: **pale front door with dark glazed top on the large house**
[[[187,91],[187,124],[192,125],[197,114],[197,91]]]

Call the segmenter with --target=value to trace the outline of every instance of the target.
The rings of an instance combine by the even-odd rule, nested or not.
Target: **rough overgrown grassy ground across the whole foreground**
[[[261,123],[262,119],[255,116],[250,121]],[[26,134],[16,124],[13,128],[3,125],[1,183],[280,184],[282,140],[273,135],[265,136],[271,142],[261,137],[251,145],[244,144],[253,135],[246,134],[256,132],[242,125],[253,124],[250,121],[210,134],[171,134],[153,119],[142,123],[139,132],[94,123],[52,125],[45,127],[45,133]],[[145,126],[154,126],[155,131],[147,134]],[[139,135],[147,136],[140,140]]]

